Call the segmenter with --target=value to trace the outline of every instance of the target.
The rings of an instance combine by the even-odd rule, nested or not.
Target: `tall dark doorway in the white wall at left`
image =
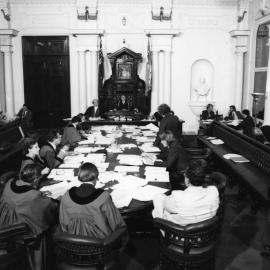
[[[22,42],[25,103],[34,127],[59,127],[70,117],[68,37],[25,36]]]

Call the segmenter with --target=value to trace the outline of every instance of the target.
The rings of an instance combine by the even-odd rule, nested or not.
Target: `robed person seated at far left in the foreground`
[[[33,236],[42,235],[27,249],[35,270],[45,269],[44,264],[49,263],[43,233],[58,219],[58,204],[35,189],[40,176],[39,166],[26,165],[19,179],[7,182],[0,200],[0,228],[25,223]]]

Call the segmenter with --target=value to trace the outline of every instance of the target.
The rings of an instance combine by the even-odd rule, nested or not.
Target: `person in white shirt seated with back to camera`
[[[204,187],[205,167],[191,161],[186,171],[185,190],[175,190],[153,200],[153,217],[167,219],[180,225],[198,223],[214,217],[219,207],[219,194],[215,186]]]

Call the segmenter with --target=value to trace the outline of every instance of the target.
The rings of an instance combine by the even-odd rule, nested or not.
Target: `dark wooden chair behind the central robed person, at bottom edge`
[[[104,239],[58,232],[54,236],[56,269],[115,269],[125,240],[126,228],[120,228]]]

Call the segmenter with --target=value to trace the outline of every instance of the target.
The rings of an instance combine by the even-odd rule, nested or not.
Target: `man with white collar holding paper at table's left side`
[[[50,169],[58,167],[67,155],[66,151],[69,147],[66,145],[64,145],[60,151],[57,151],[57,147],[60,145],[60,142],[60,133],[51,130],[47,135],[47,143],[44,144],[39,151],[39,155],[44,160],[46,167]]]

